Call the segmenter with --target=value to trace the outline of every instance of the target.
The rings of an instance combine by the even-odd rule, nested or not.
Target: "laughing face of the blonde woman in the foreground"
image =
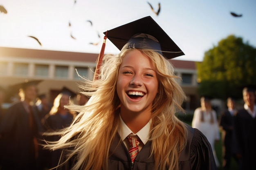
[[[117,77],[121,115],[150,115],[157,89],[157,73],[149,58],[138,50],[124,56]]]

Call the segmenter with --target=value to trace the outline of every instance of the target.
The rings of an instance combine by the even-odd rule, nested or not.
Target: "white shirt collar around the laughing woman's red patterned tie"
[[[137,135],[144,145],[147,143],[149,139],[150,125],[152,122],[151,120],[148,121],[148,123],[141,130],[139,130],[139,132],[134,134],[132,130],[130,130],[130,128],[128,128],[128,126],[124,123],[123,119],[121,118],[121,115],[119,115],[119,118],[120,118],[120,124],[118,127],[118,133],[122,141],[124,141],[128,135],[132,134],[132,135]]]

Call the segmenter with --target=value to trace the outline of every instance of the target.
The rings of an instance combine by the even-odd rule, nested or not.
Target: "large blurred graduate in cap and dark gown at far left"
[[[20,85],[20,102],[8,108],[2,123],[0,135],[4,146],[0,153],[2,170],[35,170],[38,157],[38,138],[42,126],[33,105],[36,99],[36,83]]]

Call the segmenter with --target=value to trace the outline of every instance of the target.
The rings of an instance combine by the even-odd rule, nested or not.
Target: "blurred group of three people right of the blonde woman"
[[[207,137],[219,169],[256,170],[255,87],[244,87],[242,94],[243,106],[236,107],[236,99],[228,97],[227,107],[220,115],[212,108],[211,99],[202,97],[201,107],[193,115],[192,127]],[[220,140],[222,157],[218,158],[215,144]]]

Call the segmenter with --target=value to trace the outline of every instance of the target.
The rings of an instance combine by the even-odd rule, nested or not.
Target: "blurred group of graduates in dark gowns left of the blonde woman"
[[[45,136],[70,126],[78,113],[64,108],[70,102],[83,105],[88,97],[63,88],[49,102],[47,94],[37,94],[36,83],[20,85],[20,101],[0,108],[0,170],[46,170],[58,165],[61,150],[45,150],[45,141],[57,141],[58,135]],[[0,89],[0,106],[4,89]],[[65,169],[65,167],[62,167]],[[61,168],[58,168],[61,169]]]

